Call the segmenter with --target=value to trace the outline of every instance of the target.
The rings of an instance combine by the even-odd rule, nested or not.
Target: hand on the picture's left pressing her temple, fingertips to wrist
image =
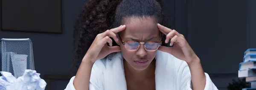
[[[125,25],[121,25],[119,27],[98,34],[94,39],[93,43],[91,44],[90,48],[86,52],[83,61],[90,60],[90,63],[93,64],[96,60],[102,59],[113,52],[121,51],[120,46],[112,46],[113,41],[110,37],[112,37],[118,44],[118,38],[116,37],[116,33],[124,30],[125,27]],[[110,46],[107,46],[107,42]],[[85,57],[90,57],[90,59],[85,59]]]

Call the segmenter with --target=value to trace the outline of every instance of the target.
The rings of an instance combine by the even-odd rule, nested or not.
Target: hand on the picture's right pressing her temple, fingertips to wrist
[[[191,64],[194,60],[199,59],[193,49],[189,46],[183,35],[181,35],[174,29],[169,29],[160,24],[157,24],[157,26],[159,30],[166,35],[166,40],[163,41],[165,41],[165,43],[167,44],[171,39],[170,46],[174,44],[173,47],[160,46],[158,50],[168,52],[176,58],[186,61],[188,64]]]

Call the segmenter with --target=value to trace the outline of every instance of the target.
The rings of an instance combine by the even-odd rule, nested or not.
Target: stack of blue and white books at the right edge
[[[244,52],[244,60],[239,64],[239,78],[246,78],[250,82],[250,88],[242,90],[256,90],[256,49],[247,49]]]

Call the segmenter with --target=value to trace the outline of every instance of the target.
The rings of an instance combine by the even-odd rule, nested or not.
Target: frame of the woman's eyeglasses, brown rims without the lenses
[[[145,42],[140,42],[140,41],[123,41],[119,33],[118,33],[118,36],[119,36],[119,38],[120,38],[120,40],[121,40],[121,42],[122,42],[123,45],[125,45],[125,43],[127,43],[127,42],[138,42],[138,43],[139,43],[139,46],[138,46],[137,49],[135,49],[135,50],[129,50],[129,51],[136,51],[136,50],[138,50],[138,49],[140,48],[140,44],[144,44],[144,48],[145,48],[145,50],[147,50],[147,49],[146,49],[146,46],[145,46],[145,43],[159,43],[157,49],[159,48],[159,46],[162,45],[162,34],[161,34],[161,40],[160,40],[159,42],[157,42],[157,41],[145,41]],[[127,49],[126,46],[125,46],[125,49]],[[157,50],[157,49],[156,49],[156,50]],[[127,50],[128,50],[128,49],[127,49]],[[147,50],[147,51],[156,51],[156,50]]]

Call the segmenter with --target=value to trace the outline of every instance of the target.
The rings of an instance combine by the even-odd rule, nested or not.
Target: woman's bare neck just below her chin
[[[143,81],[155,76],[155,59],[145,70],[135,70],[126,60],[124,60],[125,78],[128,80]]]

